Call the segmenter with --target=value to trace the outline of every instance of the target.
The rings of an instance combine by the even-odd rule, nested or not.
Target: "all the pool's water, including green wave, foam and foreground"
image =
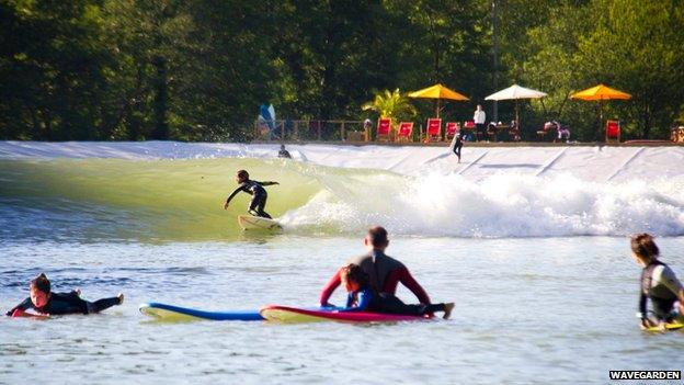
[[[608,370],[683,369],[684,333],[637,327],[626,237],[663,236],[683,278],[682,180],[476,183],[253,159],[0,166],[0,307],[39,272],[88,299],[126,295],[95,316],[0,318],[0,383],[605,384]],[[284,234],[242,234],[246,196],[220,210],[241,167],[281,182],[267,208]],[[453,319],[160,324],[137,310],[316,305],[372,224],[433,301],[456,303]]]

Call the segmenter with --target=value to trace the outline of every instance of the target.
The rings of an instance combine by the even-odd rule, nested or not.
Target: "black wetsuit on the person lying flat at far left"
[[[91,314],[100,313],[114,305],[121,304],[118,297],[102,298],[95,302],[89,302],[81,298],[77,292],[71,293],[50,293],[47,304],[43,307],[35,307],[31,297],[24,299],[21,304],[13,307],[7,313],[11,316],[14,310],[21,309],[23,312],[34,309],[41,314],[49,314],[53,316],[59,316],[65,314]]]

